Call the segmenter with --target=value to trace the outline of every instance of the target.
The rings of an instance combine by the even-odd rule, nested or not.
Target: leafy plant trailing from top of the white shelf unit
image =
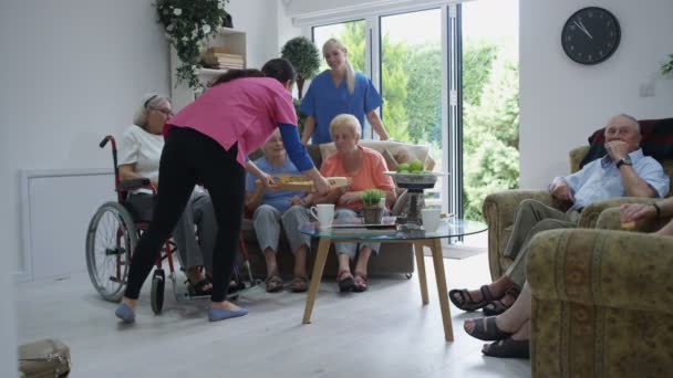
[[[227,18],[229,0],[156,0],[158,22],[180,60],[176,69],[178,83],[199,90],[198,65],[204,41],[217,33]]]

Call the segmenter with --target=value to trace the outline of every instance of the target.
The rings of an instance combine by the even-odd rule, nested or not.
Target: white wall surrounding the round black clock
[[[568,17],[588,6],[611,11],[622,29],[614,55],[594,66],[570,61],[560,44]],[[673,1],[520,0],[519,10],[522,188],[567,174],[568,151],[613,114],[673,117],[673,80],[656,78],[673,53]],[[640,85],[652,80],[655,96],[641,97]]]

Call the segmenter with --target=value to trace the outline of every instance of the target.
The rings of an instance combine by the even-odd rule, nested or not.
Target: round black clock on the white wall
[[[621,39],[614,14],[603,8],[589,7],[574,12],[561,31],[563,51],[577,63],[598,64],[610,57]]]

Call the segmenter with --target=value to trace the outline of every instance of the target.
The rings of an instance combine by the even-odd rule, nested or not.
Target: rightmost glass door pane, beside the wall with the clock
[[[519,182],[518,6],[518,0],[462,4],[464,208],[468,219],[483,219],[487,195],[517,188]]]

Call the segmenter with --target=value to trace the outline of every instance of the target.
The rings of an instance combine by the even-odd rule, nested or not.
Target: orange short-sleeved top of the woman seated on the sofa
[[[320,166],[320,174],[322,174],[324,177],[350,177],[352,191],[362,191],[367,189],[381,189],[389,191],[395,189],[393,179],[383,174],[387,170],[387,165],[385,164],[383,156],[371,148],[362,146],[358,146],[358,148],[360,148],[362,151],[362,167],[355,174],[355,176],[350,176],[343,168],[343,160],[341,159],[341,155],[339,153],[322,161],[322,165]],[[340,202],[341,198],[336,201],[336,208],[349,208],[353,211],[360,211],[363,208],[362,201],[355,201],[349,204]]]

